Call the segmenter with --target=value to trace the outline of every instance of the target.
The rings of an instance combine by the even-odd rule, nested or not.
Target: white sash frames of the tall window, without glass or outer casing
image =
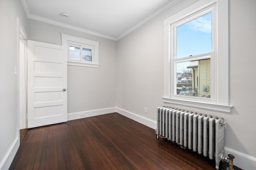
[[[194,100],[194,101],[199,101],[199,102],[206,102],[206,100],[211,100],[211,102],[215,102],[216,98],[215,98],[215,84],[214,82],[216,82],[214,77],[214,74],[216,74],[216,64],[214,64],[214,56],[216,54],[216,45],[215,45],[215,5],[212,4],[198,12],[195,12],[194,14],[191,14],[190,16],[187,16],[185,18],[183,18],[182,20],[176,21],[174,23],[171,24],[171,30],[170,30],[170,39],[171,39],[171,49],[170,49],[170,63],[171,63],[171,84],[170,84],[170,96],[171,98],[177,98],[177,99],[185,99],[185,100]],[[212,12],[212,31],[211,31],[211,35],[212,35],[212,45],[211,45],[211,51],[209,51],[209,53],[204,53],[204,54],[198,54],[198,55],[193,55],[193,56],[189,56],[189,57],[182,57],[177,59],[176,58],[176,28],[188,21],[192,21],[200,16],[203,16],[204,14],[207,14],[209,12]],[[179,96],[176,95],[176,63],[180,63],[180,62],[185,62],[185,61],[198,61],[198,60],[202,60],[202,59],[211,59],[211,91],[210,91],[210,96],[211,98],[200,98],[200,97],[193,97],[193,96]],[[209,102],[209,101],[207,101]]]

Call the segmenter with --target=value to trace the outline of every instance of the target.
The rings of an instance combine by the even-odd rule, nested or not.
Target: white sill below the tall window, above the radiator
[[[231,108],[233,107],[230,105],[206,103],[206,102],[196,102],[196,101],[189,101],[189,100],[180,100],[180,99],[167,98],[167,97],[162,97],[162,99],[163,99],[164,104],[177,104],[177,105],[182,105],[182,106],[191,106],[191,107],[197,107],[200,109],[222,111],[225,113],[230,113]]]

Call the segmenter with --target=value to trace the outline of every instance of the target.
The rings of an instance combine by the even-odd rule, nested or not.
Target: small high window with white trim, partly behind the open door
[[[99,67],[99,42],[67,34],[62,35],[62,45],[68,48],[68,65]]]

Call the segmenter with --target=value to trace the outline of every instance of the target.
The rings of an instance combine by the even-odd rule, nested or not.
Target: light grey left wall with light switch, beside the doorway
[[[0,169],[9,168],[19,146],[17,111],[17,17],[27,28],[26,14],[17,0],[0,1]]]

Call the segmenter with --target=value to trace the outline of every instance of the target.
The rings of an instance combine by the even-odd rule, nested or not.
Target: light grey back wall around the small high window
[[[116,106],[116,41],[31,19],[28,27],[28,39],[34,41],[61,45],[60,33],[66,33],[100,42],[100,68],[68,66],[68,120],[80,112],[85,117],[98,109],[110,113],[108,108]]]

